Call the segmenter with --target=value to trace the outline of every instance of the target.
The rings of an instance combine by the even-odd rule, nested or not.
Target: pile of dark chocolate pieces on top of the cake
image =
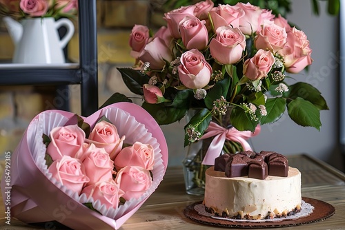
[[[227,177],[248,176],[264,180],[269,176],[288,176],[288,160],[275,151],[241,151],[224,154],[215,159],[215,170],[224,171]]]

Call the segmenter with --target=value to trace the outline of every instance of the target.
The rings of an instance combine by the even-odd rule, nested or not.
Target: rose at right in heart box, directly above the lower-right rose
[[[114,160],[116,169],[126,165],[139,166],[146,170],[152,170],[155,164],[155,150],[149,144],[135,142],[132,146],[125,147]]]

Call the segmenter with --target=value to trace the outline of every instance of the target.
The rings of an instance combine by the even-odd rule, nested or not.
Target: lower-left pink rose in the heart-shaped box
[[[89,182],[81,161],[70,156],[63,156],[61,159],[53,161],[48,171],[52,174],[52,178],[61,182],[61,185],[79,195],[83,186]]]

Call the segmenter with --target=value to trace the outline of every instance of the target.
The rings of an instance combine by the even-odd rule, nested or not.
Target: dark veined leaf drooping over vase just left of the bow
[[[192,118],[188,124],[184,127],[185,134],[184,134],[184,147],[190,144],[188,140],[188,134],[186,132],[187,127],[193,126],[200,134],[204,134],[205,130],[207,129],[208,125],[210,125],[210,121],[212,120],[212,113],[210,110],[206,108],[200,109]]]

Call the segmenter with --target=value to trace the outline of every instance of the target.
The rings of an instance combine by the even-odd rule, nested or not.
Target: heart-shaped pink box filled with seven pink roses
[[[135,104],[88,118],[42,112],[12,155],[11,181],[1,180],[11,193],[6,209],[23,222],[118,229],[158,187],[167,154],[161,129]]]

